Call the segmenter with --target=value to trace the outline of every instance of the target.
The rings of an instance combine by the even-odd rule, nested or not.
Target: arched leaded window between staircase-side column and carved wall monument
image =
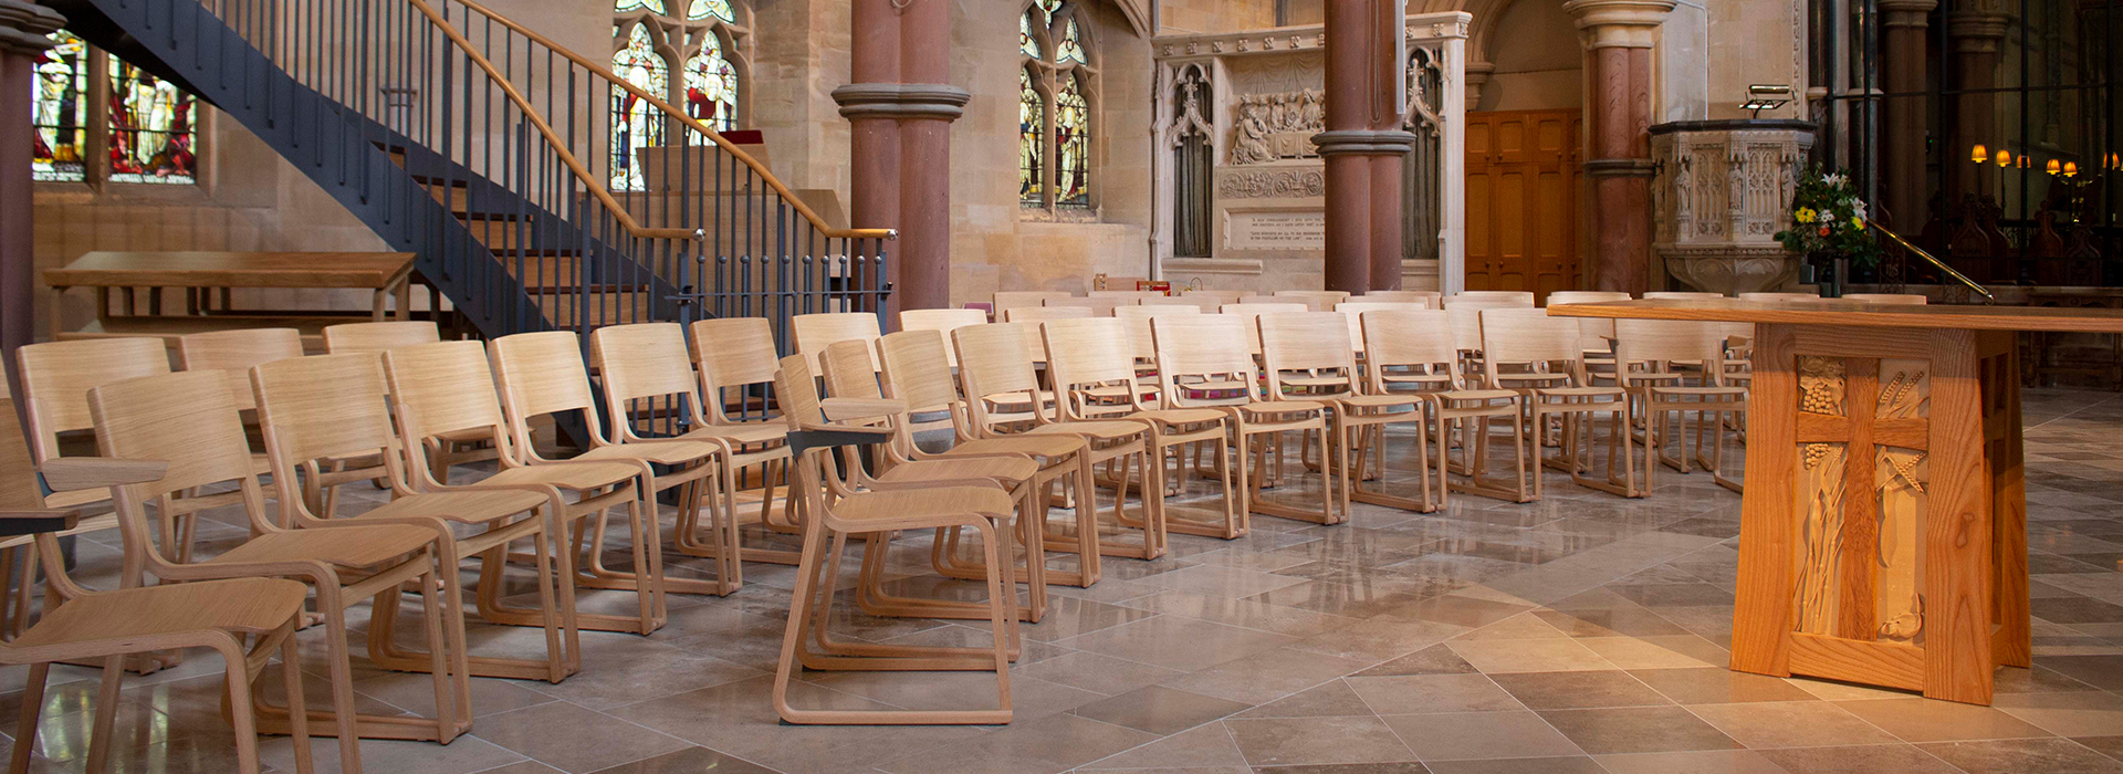
[[[1089,28],[1083,0],[1032,0],[1017,23],[1017,174],[1025,208],[1093,208],[1098,57]]]

